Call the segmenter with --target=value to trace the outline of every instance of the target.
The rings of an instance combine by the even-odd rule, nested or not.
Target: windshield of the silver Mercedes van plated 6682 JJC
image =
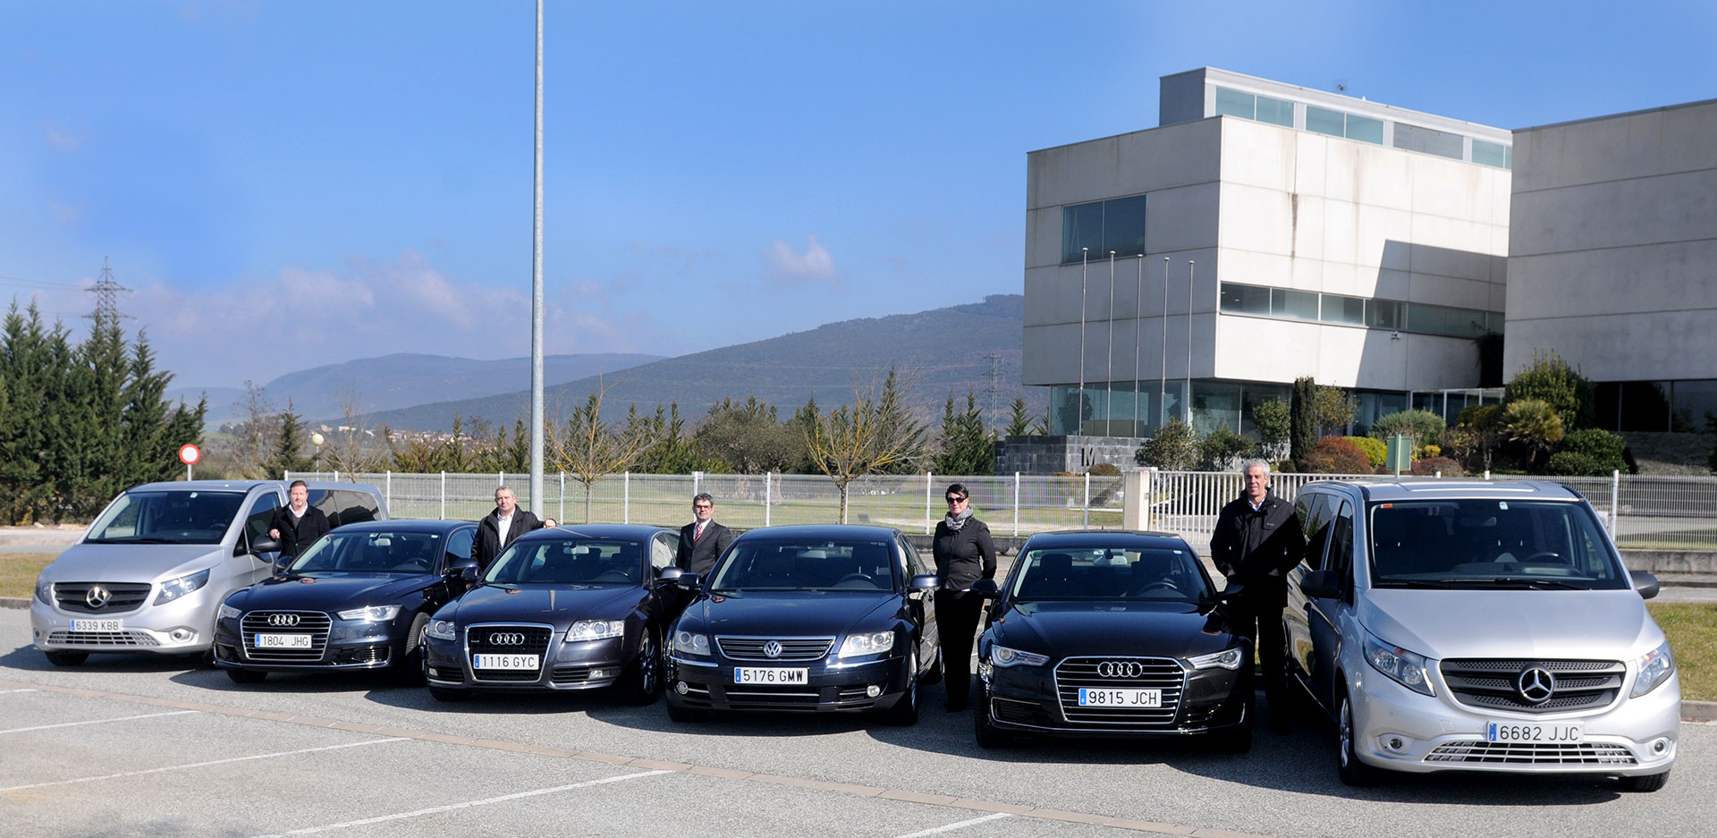
[[[1372,505],[1375,587],[1624,589],[1592,510],[1568,501]]]

